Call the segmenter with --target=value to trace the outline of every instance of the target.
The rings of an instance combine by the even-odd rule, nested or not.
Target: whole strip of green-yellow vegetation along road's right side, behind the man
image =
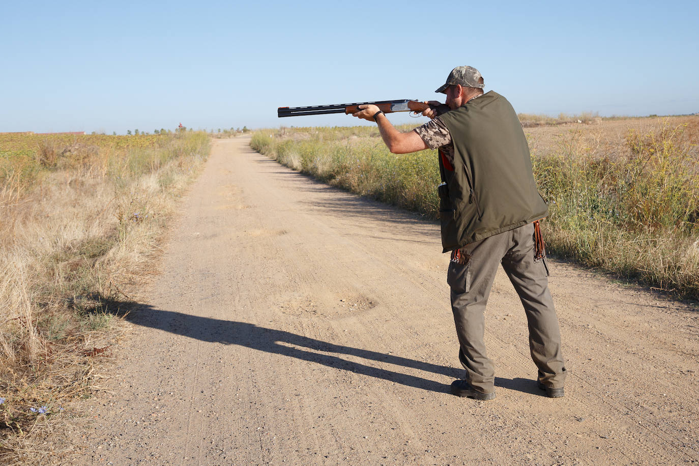
[[[549,253],[699,299],[699,118],[613,123],[617,131],[561,126],[550,147],[525,129],[549,203]],[[436,151],[390,154],[373,127],[257,131],[251,146],[333,186],[438,217]]]

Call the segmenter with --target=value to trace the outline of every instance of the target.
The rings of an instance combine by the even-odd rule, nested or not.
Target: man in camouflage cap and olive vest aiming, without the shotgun
[[[355,117],[375,121],[394,154],[439,148],[443,252],[452,252],[447,282],[466,377],[452,383],[454,395],[495,398],[493,363],[483,342],[484,312],[498,263],[510,277],[526,312],[538,386],[563,396],[566,370],[556,310],[538,220],[548,207],[536,189],[529,148],[512,105],[483,92],[481,74],[457,66],[422,114],[431,122],[401,133],[376,105],[360,105]]]

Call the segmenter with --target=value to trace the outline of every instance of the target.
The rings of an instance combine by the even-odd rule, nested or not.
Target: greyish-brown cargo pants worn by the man
[[[477,391],[494,391],[495,372],[483,335],[485,308],[498,264],[519,295],[529,328],[531,358],[538,367],[538,381],[563,386],[566,370],[561,355],[561,333],[549,279],[542,259],[534,259],[534,226],[528,224],[473,242],[459,249],[461,262],[449,262],[447,282],[459,337],[459,361],[466,379]],[[454,255],[452,255],[454,257]]]

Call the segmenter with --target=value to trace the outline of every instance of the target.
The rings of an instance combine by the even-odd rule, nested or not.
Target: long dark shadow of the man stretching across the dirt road
[[[284,330],[257,326],[253,323],[192,316],[181,312],[159,310],[149,305],[134,305],[114,301],[111,303],[103,301],[103,304],[106,304],[103,309],[109,310],[114,314],[123,314],[123,312],[115,310],[129,309],[129,312],[125,314],[125,318],[140,326],[157,328],[203,342],[238,344],[258,351],[289,356],[302,361],[348,370],[355,374],[384,379],[396,384],[428,391],[447,393],[449,392],[449,385],[411,374],[403,374],[403,372],[396,372],[396,370],[348,361],[338,355],[354,356],[370,361],[389,363],[398,367],[410,367],[424,372],[445,375],[452,379],[459,379],[463,376],[463,370],[456,367],[415,361],[414,359],[403,358],[393,354],[323,342]],[[503,379],[496,377],[496,386],[538,394],[534,389],[533,382],[527,379]]]

